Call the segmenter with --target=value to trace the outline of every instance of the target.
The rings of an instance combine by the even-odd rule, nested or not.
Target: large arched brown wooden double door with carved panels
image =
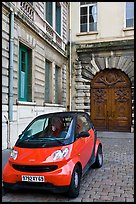
[[[91,83],[91,118],[99,131],[131,130],[131,83],[124,72],[105,69]]]

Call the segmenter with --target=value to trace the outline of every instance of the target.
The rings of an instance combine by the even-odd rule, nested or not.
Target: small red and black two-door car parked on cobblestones
[[[4,166],[3,187],[66,192],[75,198],[87,169],[102,164],[102,143],[87,113],[44,114],[19,135]]]

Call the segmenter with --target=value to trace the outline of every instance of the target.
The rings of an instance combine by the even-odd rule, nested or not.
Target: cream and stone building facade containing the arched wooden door
[[[71,2],[71,19],[72,109],[133,132],[134,2]]]

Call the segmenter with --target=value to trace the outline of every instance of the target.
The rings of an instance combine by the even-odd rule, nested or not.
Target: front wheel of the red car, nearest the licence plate
[[[68,196],[70,198],[76,198],[79,195],[80,180],[81,180],[81,170],[79,166],[76,165],[72,173],[71,183],[68,191]]]

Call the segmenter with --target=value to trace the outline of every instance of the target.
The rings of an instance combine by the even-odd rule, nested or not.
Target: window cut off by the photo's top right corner
[[[134,27],[134,2],[126,2],[126,27]]]

